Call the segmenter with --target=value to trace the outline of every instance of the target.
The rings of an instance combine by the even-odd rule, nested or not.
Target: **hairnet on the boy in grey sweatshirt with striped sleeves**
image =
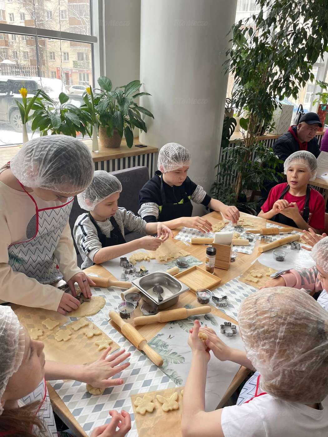
[[[117,177],[105,170],[96,170],[91,185],[82,193],[77,194],[77,201],[81,208],[93,211],[98,203],[121,191],[122,185]]]

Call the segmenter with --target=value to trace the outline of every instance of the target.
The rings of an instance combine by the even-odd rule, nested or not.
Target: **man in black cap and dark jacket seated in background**
[[[300,118],[298,125],[290,126],[288,132],[277,139],[273,145],[273,152],[284,162],[288,156],[298,150],[307,150],[318,158],[320,147],[318,140],[315,138],[318,128],[322,128],[318,114],[307,112]],[[276,171],[283,173],[283,163],[276,167]],[[271,188],[281,182],[284,182],[284,179],[278,178],[278,182],[271,180],[264,182],[258,208],[265,202]]]

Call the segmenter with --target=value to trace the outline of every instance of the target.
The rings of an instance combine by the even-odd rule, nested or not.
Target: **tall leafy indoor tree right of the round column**
[[[320,2],[255,0],[255,3],[260,7],[258,14],[232,26],[231,48],[226,50],[223,64],[223,71],[235,78],[236,112],[247,108],[247,116],[240,120],[244,129],[242,142],[227,150],[219,163],[222,172],[228,171],[229,166],[236,171],[224,182],[235,205],[240,203],[241,191],[247,187],[254,190],[265,178],[276,180],[279,176],[279,161],[272,150],[261,145],[259,137],[272,129],[279,101],[290,96],[297,99],[300,87],[314,80],[312,65],[328,45],[325,31],[328,15],[322,14]],[[220,196],[221,190],[218,191]]]

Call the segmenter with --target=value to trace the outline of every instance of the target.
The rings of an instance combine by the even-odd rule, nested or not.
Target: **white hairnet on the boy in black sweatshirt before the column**
[[[190,164],[191,155],[189,150],[176,142],[168,142],[158,153],[157,168],[163,166],[164,173],[167,171],[178,170]]]

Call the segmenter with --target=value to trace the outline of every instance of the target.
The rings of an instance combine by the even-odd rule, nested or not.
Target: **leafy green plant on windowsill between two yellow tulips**
[[[59,94],[59,102],[52,100],[43,90],[35,100],[32,109],[32,131],[39,130],[40,135],[63,134],[76,138],[77,133],[91,136],[89,126],[92,120],[89,112],[68,104],[69,97],[65,93]]]

